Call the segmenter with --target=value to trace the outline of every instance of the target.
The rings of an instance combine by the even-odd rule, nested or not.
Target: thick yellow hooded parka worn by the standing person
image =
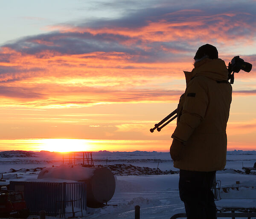
[[[178,105],[177,127],[172,138],[185,143],[174,167],[192,171],[222,170],[226,165],[227,135],[232,86],[221,59],[195,63],[184,72],[186,91]]]

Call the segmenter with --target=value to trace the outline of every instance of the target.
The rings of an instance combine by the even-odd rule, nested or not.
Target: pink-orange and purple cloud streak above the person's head
[[[132,17],[127,17],[127,20]],[[145,50],[152,49],[155,42],[186,42],[189,44],[198,44],[201,42],[215,42],[225,46],[224,43],[236,45],[237,41],[241,43],[253,43],[255,36],[255,26],[253,20],[254,14],[248,12],[228,11],[224,13],[209,14],[201,9],[180,10],[176,12],[159,14],[159,16],[145,16],[143,23],[136,26],[121,26],[118,20],[92,22],[89,25],[58,25],[51,26],[52,30],[59,30],[62,33],[90,33],[94,37],[109,35],[112,40],[126,46],[134,46]],[[116,22],[115,22],[116,21]],[[105,24],[105,26],[104,26]],[[235,37],[232,37],[235,36]],[[110,39],[110,38],[108,38]],[[190,40],[190,42],[188,42]],[[161,45],[163,48],[164,46]],[[187,52],[183,49],[172,50],[176,52]],[[171,49],[171,48],[170,48]]]

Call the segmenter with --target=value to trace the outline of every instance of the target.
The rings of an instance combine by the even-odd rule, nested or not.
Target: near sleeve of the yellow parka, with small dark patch
[[[207,93],[207,86],[201,77],[189,82],[180,119],[172,138],[186,143],[195,128],[204,120],[209,103]]]

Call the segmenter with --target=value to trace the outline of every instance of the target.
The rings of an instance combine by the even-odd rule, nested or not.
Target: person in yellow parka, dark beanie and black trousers
[[[180,199],[187,218],[215,219],[211,188],[216,170],[226,165],[232,87],[215,46],[199,47],[194,59],[192,72],[184,72],[186,91],[177,108],[170,154],[174,167],[180,169]]]

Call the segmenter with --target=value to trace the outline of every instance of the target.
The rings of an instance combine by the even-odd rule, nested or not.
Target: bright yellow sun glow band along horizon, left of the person
[[[0,150],[27,150],[50,152],[78,151],[169,151],[169,140],[103,140],[73,138],[0,139]]]

